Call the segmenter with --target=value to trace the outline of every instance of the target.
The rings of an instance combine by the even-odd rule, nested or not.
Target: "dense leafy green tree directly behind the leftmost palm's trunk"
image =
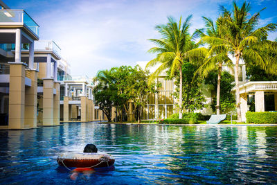
[[[205,107],[205,98],[202,94],[202,82],[203,79],[198,76],[193,79],[193,76],[197,71],[197,66],[186,62],[182,65],[183,74],[183,106],[188,112],[194,112],[195,110],[203,109]],[[179,98],[179,76],[176,78],[174,96]]]

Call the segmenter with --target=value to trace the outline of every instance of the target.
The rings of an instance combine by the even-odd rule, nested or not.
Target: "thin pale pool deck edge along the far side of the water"
[[[277,127],[277,124],[156,124],[156,123],[108,123],[97,122],[98,124],[118,124],[118,125],[173,125],[173,126],[199,126],[199,127],[237,127],[237,126],[253,126],[253,127]]]

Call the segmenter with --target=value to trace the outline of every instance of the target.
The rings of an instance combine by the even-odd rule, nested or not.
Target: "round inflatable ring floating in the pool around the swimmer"
[[[100,168],[114,164],[114,157],[105,153],[62,153],[57,164],[66,168]]]

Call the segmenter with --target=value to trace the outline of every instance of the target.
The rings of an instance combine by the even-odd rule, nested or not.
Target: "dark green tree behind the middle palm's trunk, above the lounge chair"
[[[217,72],[211,71],[208,77],[205,78],[205,84],[213,85],[213,87],[217,87]],[[234,77],[228,73],[227,71],[222,72],[222,79],[220,82],[220,113],[227,113],[233,108],[235,108],[235,97],[231,93],[231,90],[235,85],[233,84]],[[218,95],[217,95],[218,96]],[[217,109],[217,103],[213,100],[211,104],[211,108],[213,111]]]

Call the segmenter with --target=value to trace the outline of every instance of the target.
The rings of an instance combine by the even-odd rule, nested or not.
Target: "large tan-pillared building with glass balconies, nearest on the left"
[[[70,65],[55,42],[39,40],[27,12],[0,6],[0,128],[60,125],[60,84]]]

